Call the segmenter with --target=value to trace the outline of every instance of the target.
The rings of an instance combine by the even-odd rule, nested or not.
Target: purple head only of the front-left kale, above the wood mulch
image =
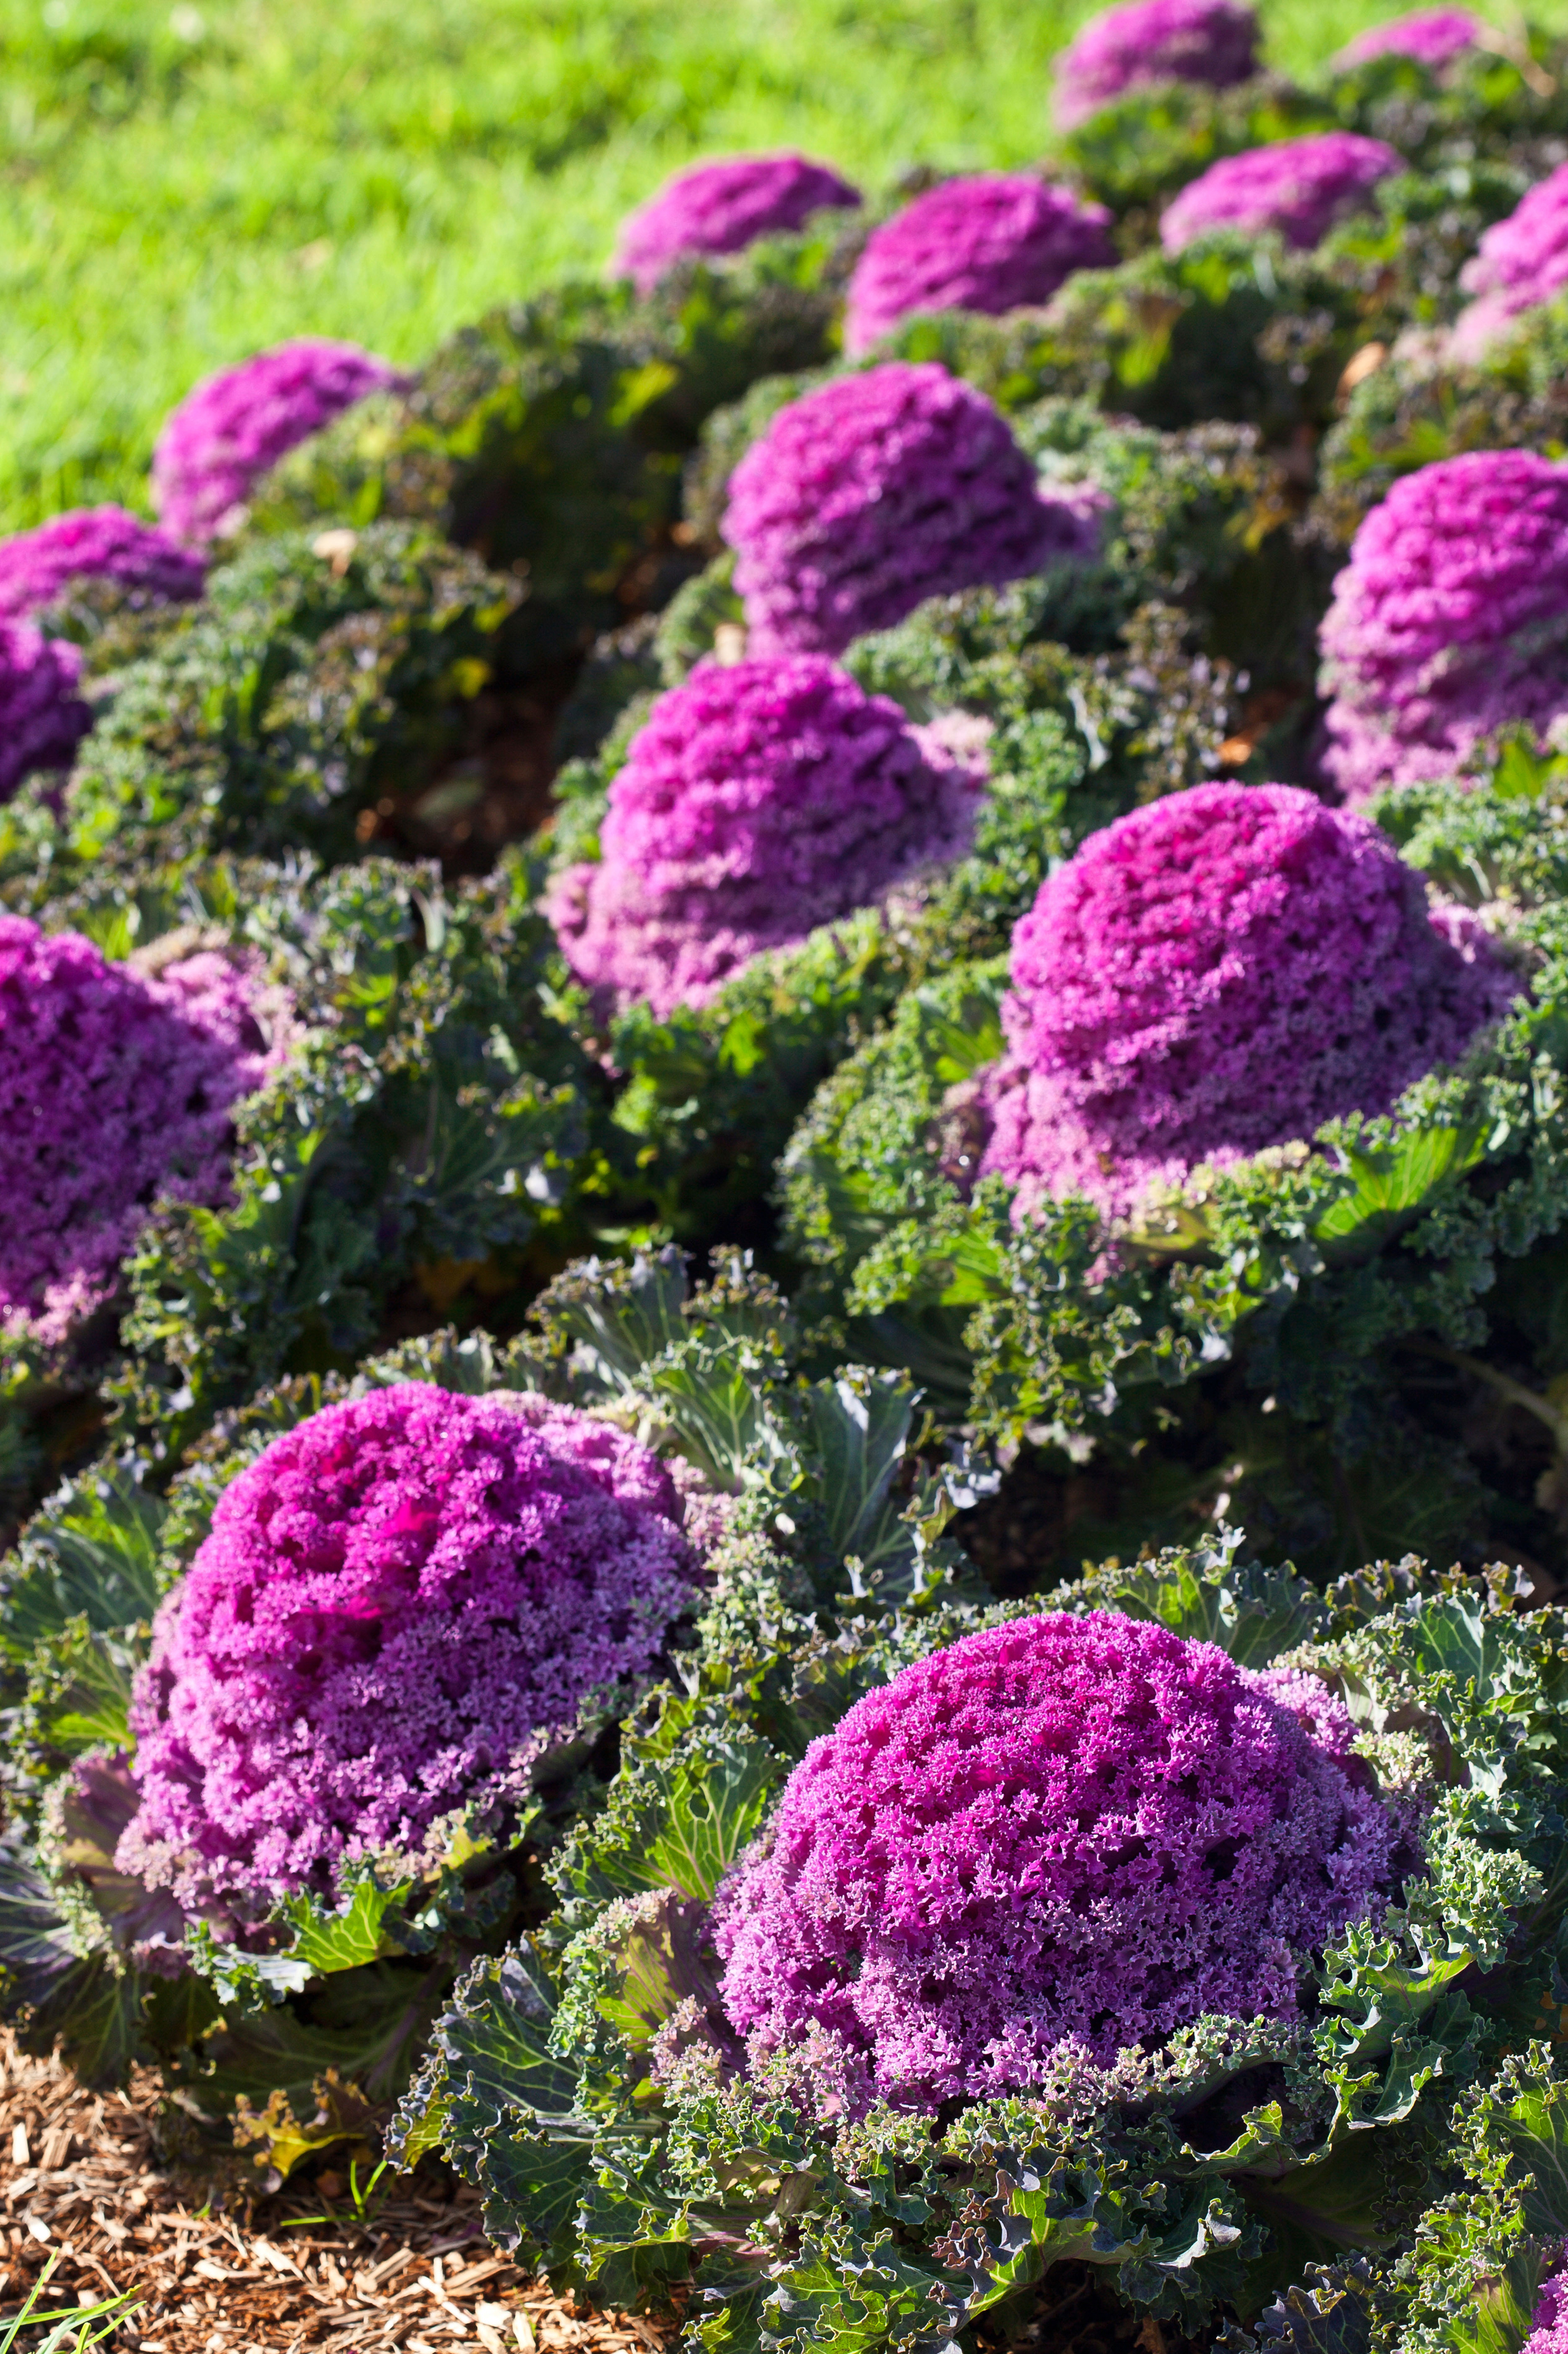
[[[577,1408],[424,1382],[323,1408],[224,1490],[158,1615],[120,1867],[245,1911],[523,1801],[692,1577],[664,1464]]]

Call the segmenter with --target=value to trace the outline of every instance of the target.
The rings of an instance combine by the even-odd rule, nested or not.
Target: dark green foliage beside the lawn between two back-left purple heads
[[[690,264],[647,301],[584,282],[494,311],[407,398],[363,403],[292,452],[254,520],[421,520],[523,586],[513,671],[572,652],[678,584],[685,452],[758,377],[829,358],[859,235],[824,221]]]

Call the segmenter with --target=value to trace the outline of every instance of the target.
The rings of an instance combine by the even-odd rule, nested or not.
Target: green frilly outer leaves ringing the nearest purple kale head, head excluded
[[[1347,1582],[1326,1612],[1236,1547],[1165,1554],[1137,1591],[1107,1577],[1055,1601],[1151,1610],[1253,1664],[1295,1645],[1293,1664],[1366,1693],[1375,1770],[1427,1791],[1427,1871],[1309,1966],[1302,2027],[1201,2020],[1116,2072],[1074,2064],[1057,2097],[937,2119],[873,2104],[815,2121],[749,2081],[706,1907],[817,1733],[899,1667],[1024,1608],[939,1603],[793,1653],[699,1655],[685,1690],[629,1728],[603,1813],[553,1860],[558,1921],[459,1984],[403,2107],[407,2144],[440,2137],[485,2192],[490,2234],[556,2283],[657,2307],[690,2281],[692,2347],[850,2354],[951,2342],[982,2314],[1012,2335],[1048,2269],[1081,2260],[1184,2333],[1229,2307],[1257,2316],[1236,2349],[1361,2354],[1389,2293],[1344,2253],[1410,2246],[1460,2175],[1455,2093],[1523,2043],[1552,1980],[1563,1624],[1410,1570]],[[1504,1695],[1516,1721],[1554,1730],[1483,1768],[1481,1794],[1462,1787],[1467,1763],[1495,1747]]]

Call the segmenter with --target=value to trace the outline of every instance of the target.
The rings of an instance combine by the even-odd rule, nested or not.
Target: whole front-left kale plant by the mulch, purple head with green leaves
[[[793,1382],[742,1259],[589,1262],[534,1323],[266,1391],[167,1492],[101,1467],[0,1584],[7,2010],[94,2081],[162,2060],[280,2173],[386,2121],[454,1973],[544,1916],[692,1622],[975,1589],[909,1384]]]

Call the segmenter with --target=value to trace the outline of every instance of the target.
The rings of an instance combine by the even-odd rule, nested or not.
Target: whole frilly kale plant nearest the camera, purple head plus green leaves
[[[1382,2290],[1561,1947],[1563,1624],[1236,1554],[704,1653],[403,2147],[702,2347],[1026,2328],[1059,2262],[1187,2335],[1311,2246]]]

